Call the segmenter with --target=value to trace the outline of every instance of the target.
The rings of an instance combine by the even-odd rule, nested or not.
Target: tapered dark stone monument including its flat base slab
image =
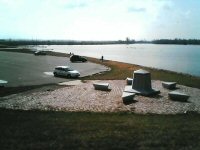
[[[131,86],[126,86],[124,91],[144,96],[159,94],[160,91],[151,87],[151,74],[146,70],[134,71],[134,80]]]

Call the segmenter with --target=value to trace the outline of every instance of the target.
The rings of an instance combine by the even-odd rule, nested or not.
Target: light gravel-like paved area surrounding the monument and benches
[[[94,90],[94,82],[108,82],[111,91]],[[47,87],[0,98],[0,107],[10,109],[41,109],[62,111],[118,112],[176,114],[189,111],[200,112],[200,89],[177,85],[176,91],[190,95],[188,102],[172,101],[171,90],[164,89],[161,81],[152,81],[152,87],[161,93],[155,97],[136,95],[134,102],[125,105],[122,92],[124,80],[84,81],[75,86],[68,85],[55,90]]]

